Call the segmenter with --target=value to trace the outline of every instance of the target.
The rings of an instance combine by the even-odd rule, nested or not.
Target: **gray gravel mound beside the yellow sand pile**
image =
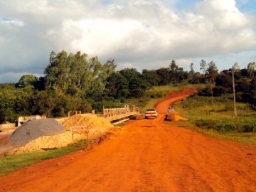
[[[38,137],[58,134],[63,131],[65,131],[65,127],[56,122],[55,119],[34,119],[18,127],[11,134],[9,141],[12,146],[18,148]]]

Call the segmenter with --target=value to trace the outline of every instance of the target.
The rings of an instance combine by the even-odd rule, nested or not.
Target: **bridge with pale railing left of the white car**
[[[103,116],[109,119],[113,124],[127,121],[129,117],[138,113],[137,107],[132,107],[132,111],[129,107],[103,109]]]

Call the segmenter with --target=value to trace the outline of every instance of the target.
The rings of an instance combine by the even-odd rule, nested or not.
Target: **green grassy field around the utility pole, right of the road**
[[[238,118],[233,116],[231,95],[222,97],[188,97],[176,102],[176,111],[188,117],[181,126],[218,139],[256,145],[256,112],[250,106],[238,102]]]

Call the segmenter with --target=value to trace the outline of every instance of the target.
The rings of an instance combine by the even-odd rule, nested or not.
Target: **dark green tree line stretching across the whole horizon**
[[[65,50],[51,52],[44,75],[23,75],[16,83],[0,84],[0,122],[14,122],[20,115],[45,114],[47,117],[66,116],[70,110],[97,112],[102,107],[120,107],[127,98],[142,98],[152,86],[170,83],[212,83],[215,96],[231,91],[230,69],[218,73],[213,61],[201,60],[202,73],[178,67],[175,60],[166,68],[142,70],[125,68],[117,71],[117,63],[109,59],[100,63],[97,56],[68,54]],[[255,106],[255,63],[235,73],[238,100]],[[203,90],[202,94],[209,94]]]

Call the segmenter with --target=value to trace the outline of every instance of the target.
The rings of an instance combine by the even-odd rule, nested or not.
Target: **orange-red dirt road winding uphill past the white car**
[[[186,95],[173,96],[160,113]],[[165,124],[160,114],[90,151],[0,177],[0,191],[256,191],[256,149]]]

